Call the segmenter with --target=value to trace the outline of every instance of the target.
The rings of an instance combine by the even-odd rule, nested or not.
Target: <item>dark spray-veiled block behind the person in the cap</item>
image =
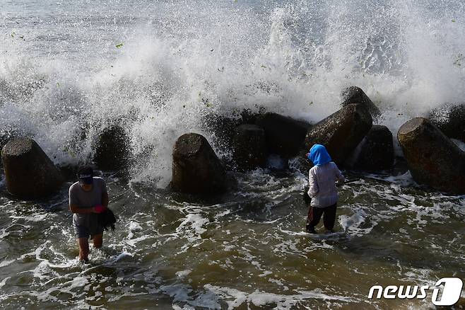
[[[126,131],[112,125],[105,128],[95,142],[93,161],[103,170],[118,170],[127,166],[129,143]]]

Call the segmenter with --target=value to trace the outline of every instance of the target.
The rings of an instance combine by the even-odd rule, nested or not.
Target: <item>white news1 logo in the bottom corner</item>
[[[440,294],[439,287],[444,285],[442,295]],[[426,290],[432,288],[432,304],[435,306],[452,306],[460,299],[461,288],[464,286],[458,277],[443,277],[438,280],[434,287],[429,285],[388,285],[382,287],[381,285],[373,285],[368,293],[368,298],[372,299],[376,294],[376,299],[425,299],[427,296]]]

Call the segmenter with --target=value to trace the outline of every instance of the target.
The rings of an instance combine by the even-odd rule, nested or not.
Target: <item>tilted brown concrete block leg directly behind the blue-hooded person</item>
[[[363,105],[350,104],[324,118],[307,132],[305,154],[313,144],[323,144],[335,163],[342,165],[372,127]]]

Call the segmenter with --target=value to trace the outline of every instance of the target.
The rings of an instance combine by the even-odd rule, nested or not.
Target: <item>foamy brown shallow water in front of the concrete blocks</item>
[[[117,231],[77,263],[66,188],[1,198],[2,309],[425,309],[372,285],[465,277],[465,198],[365,178],[340,190],[336,234],[305,234],[305,177],[257,171],[210,202],[108,179]],[[321,226],[321,225],[320,225]],[[322,226],[319,227],[322,231]]]

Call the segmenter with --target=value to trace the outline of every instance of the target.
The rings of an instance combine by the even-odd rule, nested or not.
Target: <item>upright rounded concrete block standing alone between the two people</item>
[[[223,193],[226,172],[208,141],[196,133],[183,134],[172,152],[173,190],[182,193]]]

